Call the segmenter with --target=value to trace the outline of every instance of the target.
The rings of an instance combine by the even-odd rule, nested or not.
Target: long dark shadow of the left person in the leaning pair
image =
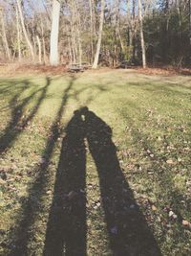
[[[78,111],[66,128],[55,176],[44,255],[86,255],[86,155]]]

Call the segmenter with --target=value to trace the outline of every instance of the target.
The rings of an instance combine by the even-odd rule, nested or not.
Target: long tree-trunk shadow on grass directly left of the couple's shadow
[[[49,165],[53,156],[55,143],[60,135],[60,121],[63,116],[65,107],[69,100],[69,94],[74,84],[74,78],[69,82],[67,88],[63,92],[61,105],[58,108],[53,125],[50,129],[50,135],[47,140],[45,151],[42,155],[42,161],[33,170],[35,175],[32,186],[29,188],[29,196],[22,204],[22,213],[17,228],[11,235],[10,242],[14,244],[9,255],[21,256],[28,255],[28,245],[33,239],[34,232],[33,223],[37,214],[42,211],[43,197],[46,195],[48,183],[50,179]],[[35,198],[35,199],[32,199]],[[33,252],[35,253],[35,251]]]

